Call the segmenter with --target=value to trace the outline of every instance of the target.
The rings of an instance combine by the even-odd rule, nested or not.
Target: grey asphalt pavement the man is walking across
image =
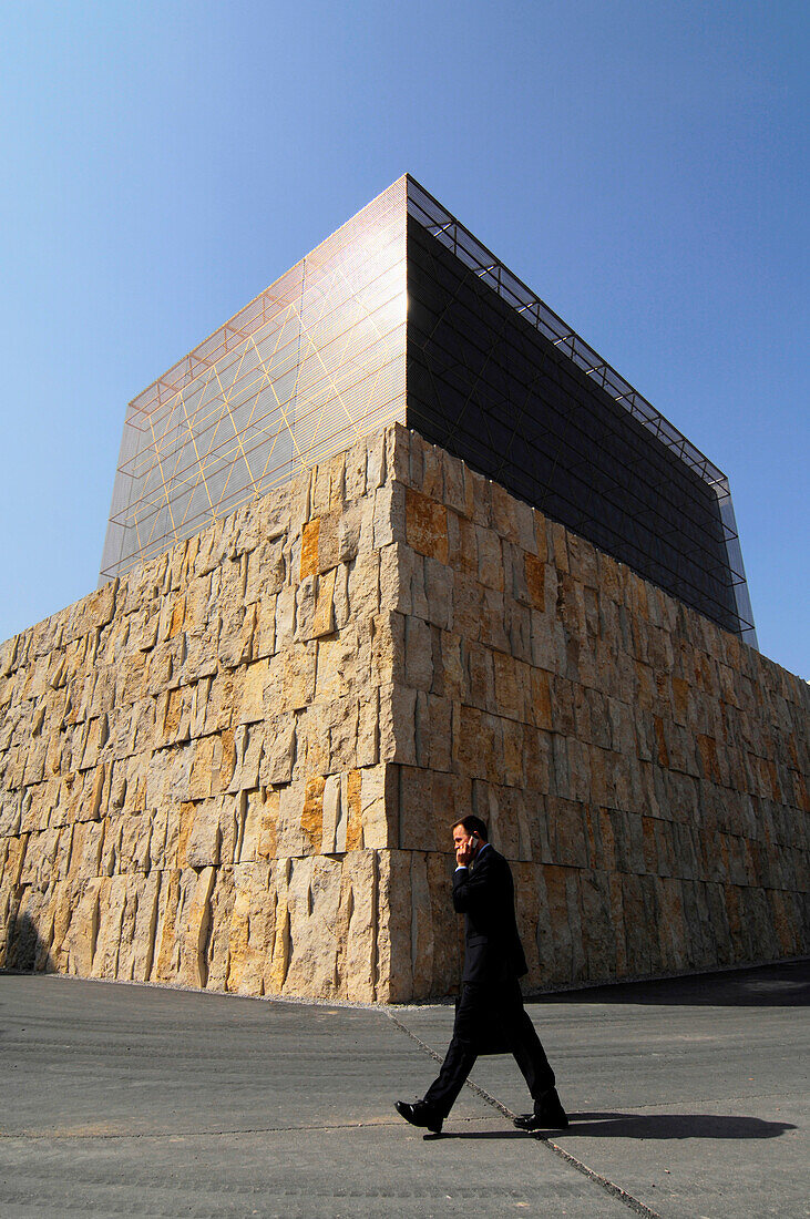
[[[440,1139],[393,1112],[449,1007],[311,1007],[0,974],[0,1214],[810,1215],[808,964],[530,1006],[571,1126],[482,1058]]]

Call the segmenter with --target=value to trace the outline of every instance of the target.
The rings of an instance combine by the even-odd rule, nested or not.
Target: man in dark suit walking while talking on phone
[[[465,923],[453,1036],[424,1100],[413,1104],[397,1101],[396,1111],[412,1125],[438,1134],[475,1059],[492,1052],[496,1042],[498,1051],[514,1054],[535,1102],[534,1113],[515,1118],[515,1125],[520,1130],[563,1129],[568,1118],[554,1087],[554,1072],[523,1006],[518,979],[529,967],[518,935],[509,864],[488,842],[479,817],[463,817],[453,825],[453,906]]]

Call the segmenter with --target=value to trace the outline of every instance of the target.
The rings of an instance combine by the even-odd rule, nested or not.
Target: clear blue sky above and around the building
[[[0,639],[95,588],[125,403],[404,171],[730,477],[810,678],[805,4],[27,0]]]

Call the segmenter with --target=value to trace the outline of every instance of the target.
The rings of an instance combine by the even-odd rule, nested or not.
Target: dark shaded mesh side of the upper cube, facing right
[[[408,424],[755,645],[728,480],[418,183]]]

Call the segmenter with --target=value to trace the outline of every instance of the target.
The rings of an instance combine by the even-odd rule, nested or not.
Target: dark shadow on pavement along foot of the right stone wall
[[[590,986],[526,1000],[527,1006],[559,1003],[660,1003],[670,1007],[808,1007],[810,961],[659,978],[642,983]]]

